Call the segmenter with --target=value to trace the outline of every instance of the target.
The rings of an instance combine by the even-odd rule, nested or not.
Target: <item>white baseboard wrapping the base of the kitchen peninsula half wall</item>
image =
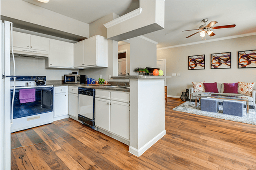
[[[142,146],[139,149],[136,149],[132,146],[129,146],[129,152],[134,154],[135,156],[139,157],[141,156],[145,151],[148,150],[148,148],[150,148],[153,144],[155,144],[158,140],[160,140],[164,135],[166,134],[166,131],[163,130],[161,131],[161,133],[159,133],[158,135],[156,135],[156,137],[154,137],[153,139],[151,139],[149,142],[147,142],[144,146]]]

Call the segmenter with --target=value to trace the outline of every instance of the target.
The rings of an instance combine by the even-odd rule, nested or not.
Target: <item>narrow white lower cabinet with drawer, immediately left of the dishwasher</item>
[[[69,115],[78,118],[78,87],[69,87]]]

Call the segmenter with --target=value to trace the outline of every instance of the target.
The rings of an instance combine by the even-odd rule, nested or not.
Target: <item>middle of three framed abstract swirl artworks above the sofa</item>
[[[231,68],[231,52],[211,54],[211,69]]]

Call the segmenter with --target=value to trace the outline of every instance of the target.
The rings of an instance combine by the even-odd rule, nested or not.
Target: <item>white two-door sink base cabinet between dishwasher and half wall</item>
[[[109,95],[110,93],[110,95]],[[118,95],[119,94],[119,95]],[[119,100],[112,100],[112,96]],[[128,96],[128,100],[127,100]],[[126,101],[126,102],[120,102]],[[96,89],[95,125],[124,139],[130,139],[130,94]]]

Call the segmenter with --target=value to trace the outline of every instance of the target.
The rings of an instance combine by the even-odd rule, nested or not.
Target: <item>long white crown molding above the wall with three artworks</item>
[[[247,36],[251,36],[251,35],[256,35],[256,32],[254,32],[254,33],[247,33],[247,34],[241,34],[241,35],[233,35],[233,36],[229,36],[229,37],[221,37],[221,38],[211,39],[211,40],[206,40],[206,41],[191,42],[191,43],[180,44],[180,45],[175,45],[175,46],[167,46],[167,47],[163,47],[163,48],[157,48],[156,50],[164,50],[164,49],[168,49],[168,48],[176,48],[176,47],[181,47],[181,46],[189,46],[189,45],[194,45],[194,44],[202,44],[202,43],[206,43],[206,42],[221,41],[221,40],[233,39],[233,38],[239,38],[239,37],[247,37]]]

